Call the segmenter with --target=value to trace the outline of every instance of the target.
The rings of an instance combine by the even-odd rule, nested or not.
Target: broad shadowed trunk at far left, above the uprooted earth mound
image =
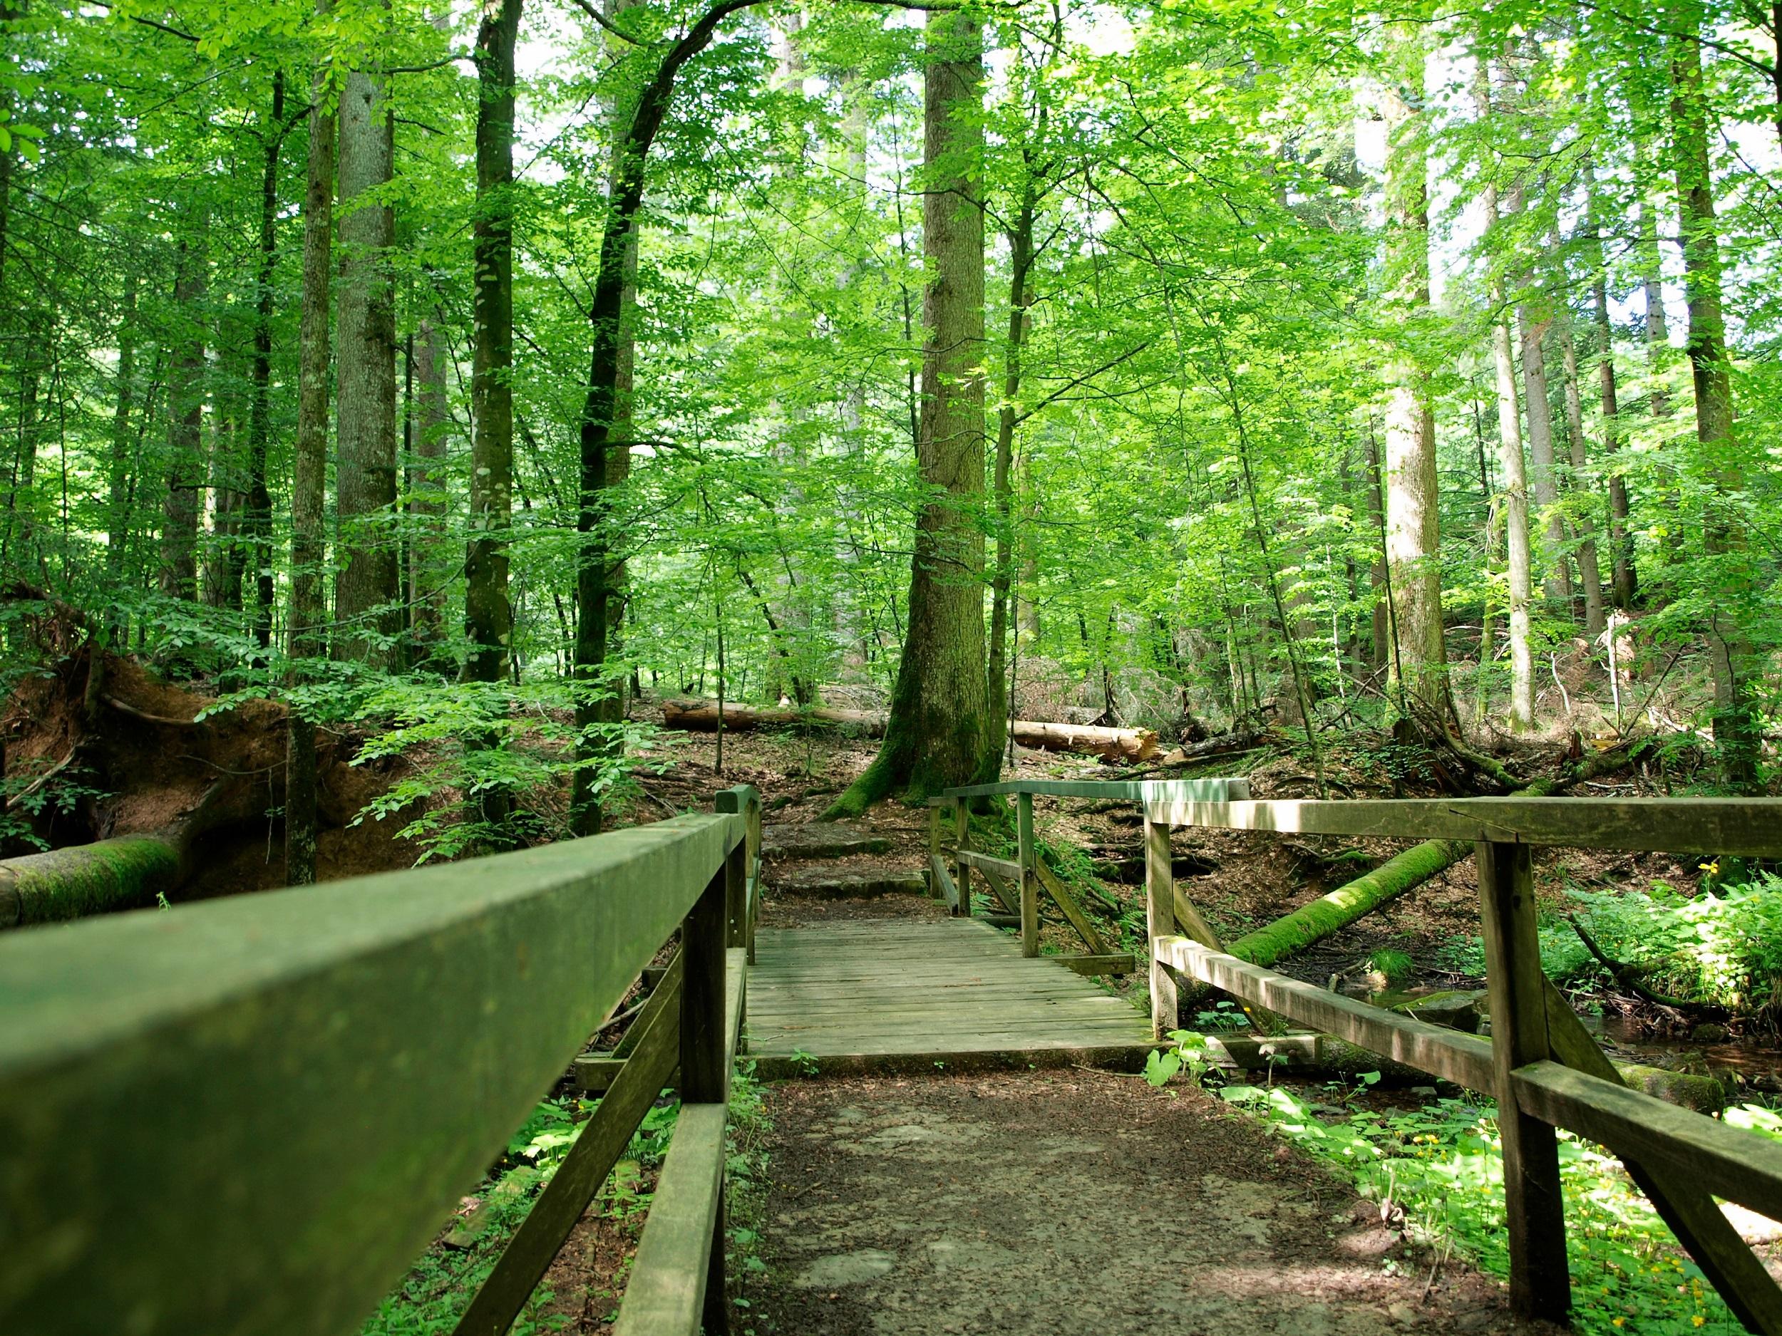
[[[205,486],[205,297],[210,257],[208,212],[194,208],[180,237],[173,305],[180,312],[178,351],[168,394],[168,493],[160,520],[160,591],[169,599],[198,597],[198,513]]]

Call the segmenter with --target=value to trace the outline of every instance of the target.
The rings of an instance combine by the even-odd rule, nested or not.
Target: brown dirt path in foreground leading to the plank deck
[[[1194,1090],[1089,1071],[788,1083],[738,1331],[1508,1331],[1322,1167]]]

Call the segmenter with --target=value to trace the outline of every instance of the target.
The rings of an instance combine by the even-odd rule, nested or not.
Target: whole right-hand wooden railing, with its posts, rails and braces
[[[1600,1142],[1627,1167],[1737,1318],[1782,1334],[1782,1290],[1727,1222],[1716,1197],[1782,1220],[1782,1144],[1631,1090],[1565,996],[1545,978],[1531,853],[1540,846],[1782,857],[1782,802],[1766,798],[1467,798],[1402,802],[1221,802],[1142,786],[1001,784],[1023,830],[1032,794],[1132,796],[1144,811],[1151,1017],[1176,1024],[1176,974],[1299,1024],[1497,1099],[1508,1206],[1509,1297],[1518,1316],[1563,1322],[1570,1309],[1556,1129]],[[964,830],[962,819],[959,828]],[[1181,894],[1173,827],[1317,835],[1458,839],[1475,846],[1492,1039],[1415,1021],[1251,965],[1224,951]],[[1030,835],[1023,837],[1023,848]],[[930,860],[932,862],[932,860]],[[937,866],[937,864],[936,864]],[[960,864],[966,866],[966,864]],[[982,868],[973,862],[971,866]],[[960,873],[964,878],[964,871]],[[964,900],[964,896],[960,896]],[[1023,926],[1026,916],[1023,914]]]

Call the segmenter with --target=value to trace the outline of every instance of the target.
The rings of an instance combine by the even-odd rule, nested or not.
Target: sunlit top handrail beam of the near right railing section
[[[1782,857],[1777,798],[1153,800],[1178,827]]]

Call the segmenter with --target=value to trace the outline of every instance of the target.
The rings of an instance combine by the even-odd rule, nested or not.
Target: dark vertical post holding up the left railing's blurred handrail
[[[681,1103],[723,1104],[731,1097],[731,1072],[725,1062],[723,1033],[723,962],[729,942],[729,898],[748,857],[738,843],[723,860],[704,894],[681,925]],[[729,1306],[723,1295],[723,1188],[713,1222],[711,1261],[706,1270],[704,1327],[707,1336],[729,1331]]]

